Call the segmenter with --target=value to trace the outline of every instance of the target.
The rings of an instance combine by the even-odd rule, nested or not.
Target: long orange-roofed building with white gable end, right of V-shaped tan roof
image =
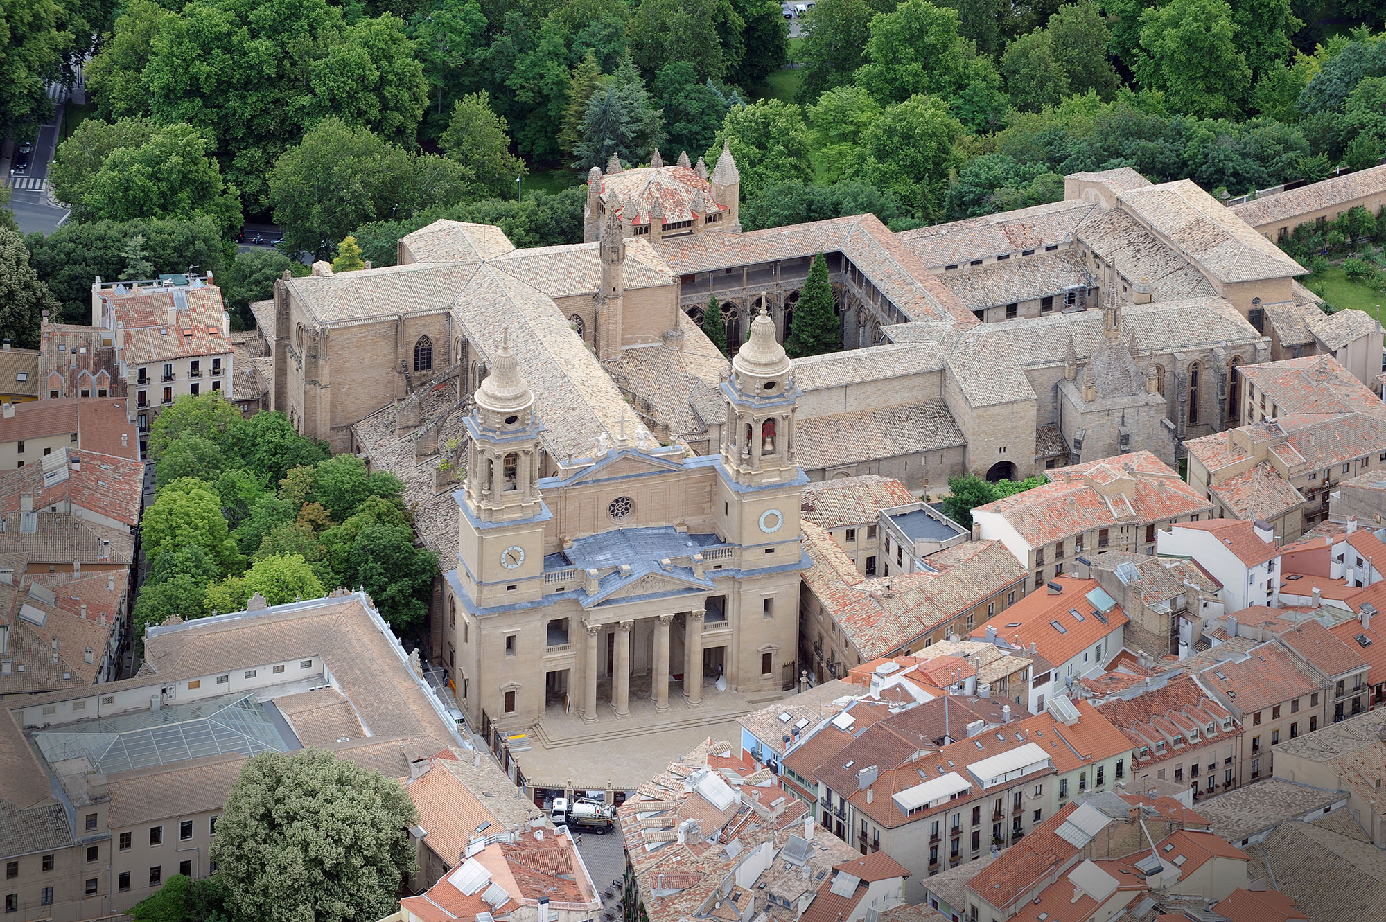
[[[1156,533],[1213,505],[1149,451],[1046,471],[1049,483],[972,511],[974,537],[1005,544],[1033,588],[1102,551],[1155,554]]]

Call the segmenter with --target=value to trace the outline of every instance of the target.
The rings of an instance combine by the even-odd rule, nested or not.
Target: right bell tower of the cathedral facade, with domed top
[[[761,303],[766,303],[764,293]],[[804,483],[804,472],[794,461],[800,392],[765,307],[751,323],[751,338],[732,360],[732,377],[722,383],[722,393],[726,424],[721,462],[728,478],[722,511],[728,540],[744,544],[790,536],[797,540]]]

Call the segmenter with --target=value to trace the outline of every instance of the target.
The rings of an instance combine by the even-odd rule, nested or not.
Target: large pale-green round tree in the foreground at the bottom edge
[[[233,919],[380,919],[416,868],[417,821],[394,778],[324,749],[266,752],[231,785],[211,858]]]

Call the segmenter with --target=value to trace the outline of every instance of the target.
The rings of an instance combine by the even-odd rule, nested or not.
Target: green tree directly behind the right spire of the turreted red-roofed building
[[[775,183],[814,174],[811,144],[804,112],[779,100],[760,100],[737,107],[722,119],[722,130],[708,147],[705,159],[715,163],[722,144],[729,143],[742,174],[742,195],[755,195]]]

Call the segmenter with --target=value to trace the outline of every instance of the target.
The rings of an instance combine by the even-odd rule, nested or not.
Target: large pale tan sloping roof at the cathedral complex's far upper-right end
[[[1308,271],[1191,180],[1127,190],[1119,201],[1222,284]]]

